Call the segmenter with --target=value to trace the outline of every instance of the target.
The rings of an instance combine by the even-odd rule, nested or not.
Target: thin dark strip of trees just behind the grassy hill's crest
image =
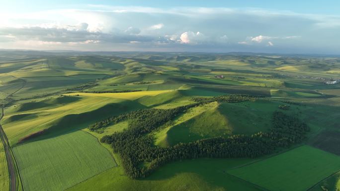
[[[209,102],[228,102],[228,103],[237,103],[237,102],[244,102],[252,99],[259,98],[260,96],[253,96],[247,94],[229,94],[229,95],[222,95],[216,97],[194,97],[191,98],[192,101],[200,102],[200,103],[209,103]]]

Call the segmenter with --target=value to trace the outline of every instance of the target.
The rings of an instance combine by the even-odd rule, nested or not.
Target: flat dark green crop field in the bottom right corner
[[[340,170],[340,157],[301,146],[228,173],[271,191],[306,191]]]

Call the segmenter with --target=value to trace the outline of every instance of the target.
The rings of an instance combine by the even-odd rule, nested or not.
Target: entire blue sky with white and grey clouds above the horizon
[[[340,55],[339,0],[0,0],[0,49]]]

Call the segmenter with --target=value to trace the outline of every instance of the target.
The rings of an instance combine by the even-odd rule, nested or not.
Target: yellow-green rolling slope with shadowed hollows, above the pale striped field
[[[20,139],[53,128],[67,131],[86,127],[89,122],[109,116],[107,112],[124,112],[143,108],[143,105],[129,100],[101,96],[62,96],[43,102],[14,105],[8,112],[2,126],[11,144]],[[13,120],[16,119],[16,120]],[[22,123],[24,122],[24,123]],[[54,132],[50,133],[54,136]]]

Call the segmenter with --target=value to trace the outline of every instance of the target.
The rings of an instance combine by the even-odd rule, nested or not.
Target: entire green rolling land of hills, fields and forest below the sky
[[[340,189],[338,57],[1,55],[20,191]]]

